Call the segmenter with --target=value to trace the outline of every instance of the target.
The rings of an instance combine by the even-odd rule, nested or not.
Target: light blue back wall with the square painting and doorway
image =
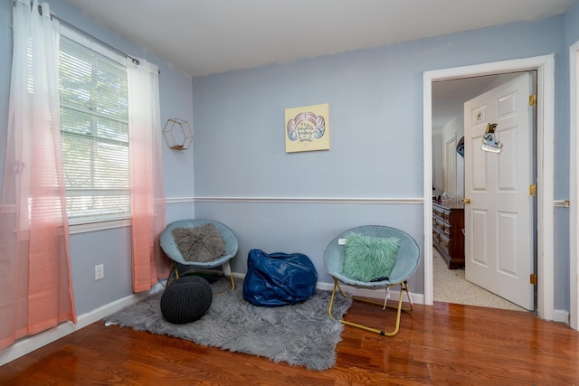
[[[197,216],[217,218],[242,236],[237,271],[245,271],[251,248],[299,251],[327,282],[321,269],[327,242],[365,223],[400,227],[423,250],[420,204],[260,198],[422,197],[422,73],[555,52],[559,89],[567,81],[560,71],[563,21],[506,24],[195,79],[195,196],[235,198],[196,202]],[[555,192],[566,198],[565,100],[558,92]],[[330,107],[330,150],[286,154],[284,108],[318,103]],[[239,202],[243,197],[255,200]],[[557,220],[557,228],[566,227],[565,217]],[[421,265],[411,281],[415,292],[423,291],[422,272]],[[557,296],[555,307],[565,307]]]

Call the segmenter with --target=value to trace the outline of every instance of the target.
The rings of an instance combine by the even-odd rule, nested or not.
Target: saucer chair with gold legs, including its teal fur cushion
[[[358,301],[383,306],[383,309],[397,310],[394,330],[384,332],[366,325],[340,320],[344,325],[352,325],[376,334],[394,336],[400,327],[402,311],[412,311],[413,302],[408,288],[410,278],[420,261],[418,244],[408,233],[382,225],[365,225],[343,231],[332,240],[324,252],[324,265],[327,273],[334,278],[334,289],[330,299],[328,314],[332,315],[332,306],[336,289],[347,297],[340,282],[350,287],[365,289],[384,289],[384,303],[366,298],[354,298]],[[400,287],[398,304],[387,303],[390,287]],[[403,308],[403,292],[408,297],[408,308]]]

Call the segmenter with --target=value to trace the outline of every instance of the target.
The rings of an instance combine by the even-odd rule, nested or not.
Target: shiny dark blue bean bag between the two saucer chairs
[[[301,253],[271,253],[252,249],[247,257],[243,298],[256,306],[286,306],[311,297],[318,272]]]

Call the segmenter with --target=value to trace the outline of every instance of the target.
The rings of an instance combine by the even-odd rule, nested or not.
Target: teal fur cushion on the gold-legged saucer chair
[[[390,276],[400,240],[362,236],[352,233],[346,236],[344,267],[342,273],[360,281],[384,280]]]

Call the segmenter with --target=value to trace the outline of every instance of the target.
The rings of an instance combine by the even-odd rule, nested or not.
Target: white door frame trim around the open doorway
[[[432,82],[517,71],[536,71],[537,81],[537,301],[539,317],[555,320],[554,178],[555,54],[425,71],[423,92],[424,304],[433,304],[432,283]]]

